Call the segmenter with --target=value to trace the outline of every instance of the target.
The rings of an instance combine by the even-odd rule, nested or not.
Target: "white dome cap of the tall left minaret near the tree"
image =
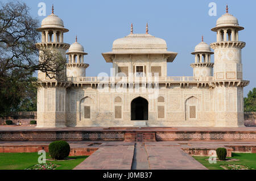
[[[44,18],[41,23],[41,28],[64,28],[63,20],[55,14],[51,14]]]

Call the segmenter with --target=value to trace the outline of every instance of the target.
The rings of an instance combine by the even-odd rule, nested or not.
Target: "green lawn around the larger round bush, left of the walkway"
[[[49,157],[49,153],[46,153]],[[23,170],[38,164],[38,153],[0,153],[0,170]],[[56,170],[71,170],[88,156],[68,157],[75,158],[67,161],[46,161],[60,165]]]

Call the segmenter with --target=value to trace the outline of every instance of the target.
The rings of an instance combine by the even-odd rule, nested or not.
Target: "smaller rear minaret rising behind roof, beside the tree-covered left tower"
[[[73,43],[68,49],[68,64],[67,64],[67,77],[85,77],[85,69],[89,64],[84,63],[84,56],[87,54],[84,52],[84,47],[80,43]]]

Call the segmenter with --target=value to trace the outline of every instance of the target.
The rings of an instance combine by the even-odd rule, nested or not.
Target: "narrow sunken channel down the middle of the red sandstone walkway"
[[[147,152],[145,145],[141,142],[137,142],[134,148],[133,165],[131,170],[148,170],[150,165],[147,159]]]

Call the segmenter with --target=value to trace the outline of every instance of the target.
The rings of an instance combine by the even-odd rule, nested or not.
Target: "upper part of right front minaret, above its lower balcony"
[[[210,44],[214,50],[214,79],[242,79],[241,49],[245,42],[238,40],[239,26],[237,18],[228,13],[222,15],[212,31],[217,33],[217,42]]]

